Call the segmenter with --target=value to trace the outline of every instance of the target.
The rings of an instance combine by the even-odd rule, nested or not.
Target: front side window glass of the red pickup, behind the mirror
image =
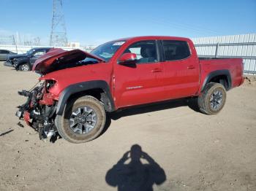
[[[156,41],[140,41],[131,44],[124,53],[135,53],[138,61],[136,63],[155,63],[157,58]]]

